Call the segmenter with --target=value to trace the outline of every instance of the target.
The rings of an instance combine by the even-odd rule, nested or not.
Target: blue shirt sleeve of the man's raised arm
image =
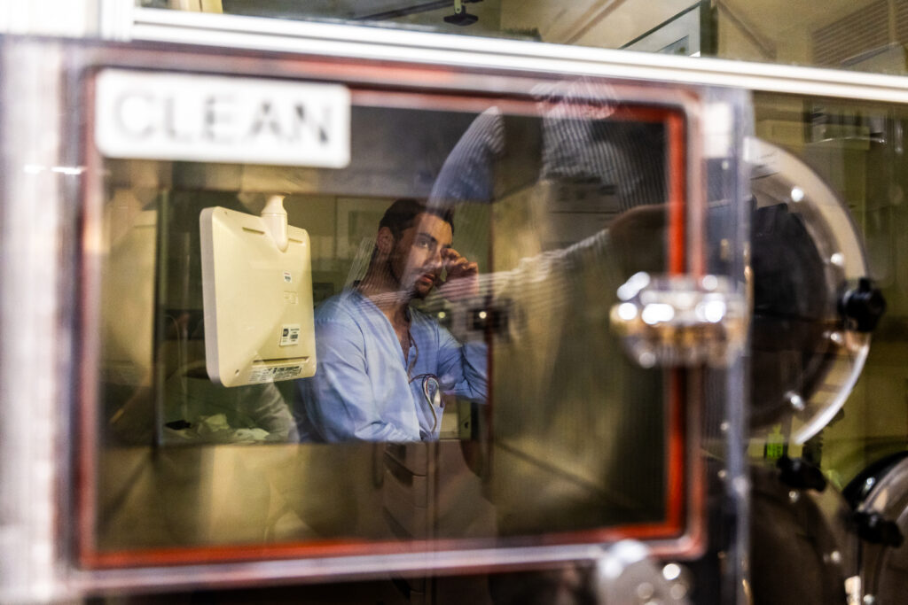
[[[482,341],[460,345],[444,327],[439,330],[439,380],[441,387],[478,403],[488,401],[489,351]]]

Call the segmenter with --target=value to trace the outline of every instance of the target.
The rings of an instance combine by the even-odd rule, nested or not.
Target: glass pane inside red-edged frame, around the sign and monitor
[[[98,551],[665,523],[668,387],[607,314],[665,270],[671,112],[597,97],[357,106],[343,170],[105,161]],[[318,366],[225,388],[199,214],[274,191],[311,240]]]

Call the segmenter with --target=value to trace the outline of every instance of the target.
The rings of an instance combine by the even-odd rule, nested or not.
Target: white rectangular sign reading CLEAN
[[[94,138],[112,158],[343,168],[350,91],[338,84],[108,69]]]

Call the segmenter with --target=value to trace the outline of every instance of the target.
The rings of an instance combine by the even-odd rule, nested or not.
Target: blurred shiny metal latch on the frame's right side
[[[637,273],[617,290],[611,327],[643,367],[725,367],[745,344],[747,303],[715,275]]]

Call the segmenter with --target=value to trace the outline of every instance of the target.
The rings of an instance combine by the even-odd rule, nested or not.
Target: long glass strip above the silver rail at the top
[[[835,0],[823,5],[785,4],[775,0],[135,1],[144,7],[225,15],[390,26],[760,63],[906,73],[908,1],[905,0]]]

